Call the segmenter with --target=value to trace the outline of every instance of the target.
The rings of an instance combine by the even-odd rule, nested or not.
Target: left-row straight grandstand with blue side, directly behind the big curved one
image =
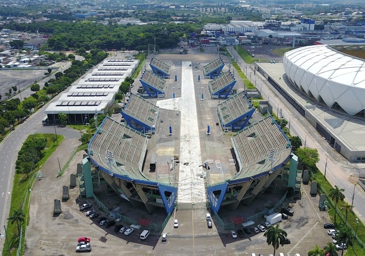
[[[133,129],[143,133],[147,131],[154,133],[159,115],[159,107],[147,102],[142,97],[132,94],[122,111],[122,115],[128,125]]]

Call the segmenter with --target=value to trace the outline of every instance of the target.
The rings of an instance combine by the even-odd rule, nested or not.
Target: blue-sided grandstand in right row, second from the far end
[[[236,82],[230,72],[222,72],[219,76],[208,82],[210,97],[213,99],[227,98]]]

